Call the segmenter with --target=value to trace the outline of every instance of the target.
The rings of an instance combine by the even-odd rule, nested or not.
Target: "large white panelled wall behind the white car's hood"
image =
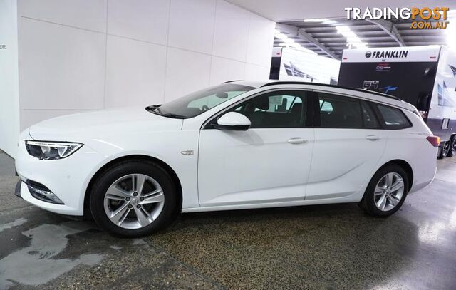
[[[21,128],[269,78],[274,22],[226,1],[18,0],[18,14]]]

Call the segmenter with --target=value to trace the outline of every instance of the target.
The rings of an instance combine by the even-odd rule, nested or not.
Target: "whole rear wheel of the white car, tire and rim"
[[[360,206],[373,217],[388,217],[404,203],[408,184],[407,173],[399,165],[382,167],[369,182]]]

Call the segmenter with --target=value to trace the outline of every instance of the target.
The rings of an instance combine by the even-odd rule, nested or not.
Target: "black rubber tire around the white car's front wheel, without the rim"
[[[162,211],[154,221],[139,229],[125,229],[111,222],[105,208],[105,193],[110,185],[120,177],[130,174],[143,174],[155,179],[162,187],[165,199]],[[152,161],[128,160],[105,170],[93,183],[90,190],[90,212],[93,219],[106,232],[117,237],[144,237],[167,227],[179,213],[177,187],[168,172]]]

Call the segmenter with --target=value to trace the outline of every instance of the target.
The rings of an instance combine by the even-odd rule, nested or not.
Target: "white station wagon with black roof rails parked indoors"
[[[16,195],[124,237],[180,212],[358,202],[387,217],[432,182],[439,143],[413,105],[390,95],[232,81],[31,126]]]

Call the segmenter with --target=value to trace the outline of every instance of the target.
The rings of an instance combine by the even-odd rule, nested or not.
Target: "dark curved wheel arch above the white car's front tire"
[[[108,170],[110,167],[114,167],[120,162],[125,162],[125,161],[152,161],[156,162],[158,165],[163,167],[163,169],[166,170],[166,172],[170,175],[172,178],[172,181],[175,182],[176,189],[178,192],[178,199],[177,199],[177,207],[178,210],[180,211],[182,209],[182,185],[180,183],[180,179],[177,176],[176,172],[168,165],[166,162],[156,158],[152,157],[149,155],[126,155],[126,156],[121,156],[118,158],[115,158],[114,160],[110,160],[110,162],[106,163],[102,167],[100,167],[95,174],[90,178],[90,181],[88,182],[88,185],[86,187],[86,192],[84,192],[84,217],[90,217],[90,207],[89,207],[89,200],[90,200],[90,190],[92,190],[93,187],[93,182],[97,180],[97,178],[105,172],[105,170]]]

